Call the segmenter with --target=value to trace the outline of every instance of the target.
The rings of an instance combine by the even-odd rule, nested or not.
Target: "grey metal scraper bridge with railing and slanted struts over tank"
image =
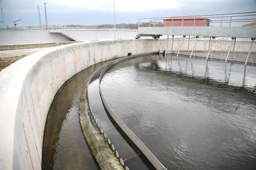
[[[198,20],[200,18],[200,20]],[[249,48],[245,65],[248,62],[249,55],[253,41],[256,38],[256,11],[244,13],[228,13],[228,14],[210,14],[210,15],[190,15],[190,16],[176,16],[176,17],[155,17],[155,18],[140,18],[138,20],[138,34],[134,38],[152,37],[160,38],[162,35],[167,35],[167,52],[171,47],[173,52],[174,35],[183,36],[182,43],[179,47],[177,56],[181,50],[182,44],[186,36],[195,36],[196,41],[191,51],[190,57],[195,49],[195,45],[199,36],[212,37],[212,42],[209,42],[208,54],[206,60],[210,55],[211,47],[216,37],[231,37],[232,42],[228,49],[225,63],[228,60],[232,44],[233,52],[235,48],[236,38],[250,38],[251,45]],[[250,23],[250,26],[244,26]],[[198,26],[200,25],[200,26]],[[172,40],[168,43],[169,35],[172,35]],[[234,42],[234,43],[233,43]],[[172,46],[171,46],[172,44]],[[189,40],[188,40],[189,44]]]

